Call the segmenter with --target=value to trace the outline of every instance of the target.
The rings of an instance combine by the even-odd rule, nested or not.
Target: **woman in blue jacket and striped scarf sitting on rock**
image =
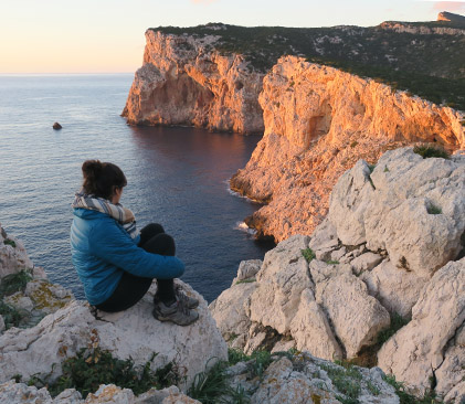
[[[126,310],[139,301],[157,279],[154,317],[188,326],[199,318],[199,300],[175,288],[184,272],[175,257],[175,241],[159,224],[139,232],[130,210],[119,200],[127,181],[110,162],[87,160],[84,182],[76,193],[71,226],[73,264],[88,302],[108,312]]]

